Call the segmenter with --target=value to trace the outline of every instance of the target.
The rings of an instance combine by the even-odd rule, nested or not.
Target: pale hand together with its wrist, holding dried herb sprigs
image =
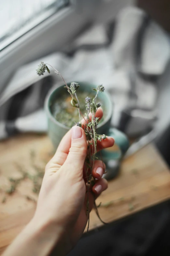
[[[96,116],[101,118],[102,109]],[[82,125],[84,121],[82,120]],[[111,147],[114,139],[98,142],[97,149]],[[66,255],[78,242],[87,225],[87,193],[83,166],[87,152],[85,132],[75,126],[63,137],[45,169],[33,219],[7,248],[3,256]],[[90,210],[94,199],[107,188],[102,178],[105,165],[97,160],[92,175],[96,179],[89,193]]]

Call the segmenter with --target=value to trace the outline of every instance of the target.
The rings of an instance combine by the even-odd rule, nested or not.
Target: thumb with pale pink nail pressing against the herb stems
[[[87,154],[86,135],[82,128],[74,126],[71,129],[71,147],[64,165],[69,166],[69,171],[83,176],[83,166]]]

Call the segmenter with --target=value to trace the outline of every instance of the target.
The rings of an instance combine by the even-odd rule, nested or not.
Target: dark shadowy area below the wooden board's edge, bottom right
[[[166,256],[169,239],[170,202],[166,202],[89,232],[68,256]]]

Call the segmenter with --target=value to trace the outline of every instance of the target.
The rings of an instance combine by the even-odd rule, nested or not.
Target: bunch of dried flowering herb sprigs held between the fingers
[[[36,70],[37,74],[39,76],[44,75],[46,70],[50,73],[50,70],[49,70],[47,65],[51,66],[50,64],[45,64],[44,62],[40,63],[40,65],[38,66],[38,69]],[[93,179],[93,176],[92,176],[92,170],[93,170],[93,167],[94,167],[94,161],[96,159],[97,141],[101,141],[101,140],[106,139],[105,134],[100,135],[100,134],[96,133],[96,129],[97,129],[97,126],[98,126],[98,123],[99,123],[99,118],[95,117],[95,115],[96,115],[97,109],[101,106],[101,104],[97,103],[96,101],[97,101],[98,94],[103,93],[104,90],[105,90],[105,87],[102,84],[98,85],[96,88],[93,89],[94,91],[96,91],[95,97],[93,99],[90,98],[90,97],[86,97],[85,107],[86,107],[86,110],[87,110],[87,117],[85,119],[84,116],[81,114],[80,103],[79,103],[79,100],[78,100],[78,97],[77,97],[77,90],[79,89],[79,84],[76,83],[76,82],[71,82],[70,87],[68,87],[67,83],[65,82],[65,80],[62,77],[62,75],[60,74],[60,72],[58,70],[56,70],[53,66],[51,66],[51,67],[54,69],[54,72],[63,79],[64,84],[65,84],[65,88],[67,89],[68,93],[72,97],[71,105],[75,108],[78,108],[79,122],[77,123],[77,126],[82,127],[85,131],[85,134],[86,134],[87,149],[88,150],[87,150],[87,155],[86,155],[86,160],[85,160],[85,172],[86,172],[86,180],[87,180],[86,186],[87,186],[87,216],[88,216],[87,231],[88,231],[88,229],[89,229],[89,214],[90,214],[90,210],[89,210],[89,192],[90,192],[91,187],[95,184],[95,180]],[[91,121],[90,121],[90,118],[89,118],[89,113],[90,112],[92,113]],[[83,126],[81,125],[81,116],[86,121],[86,124],[83,125]],[[94,208],[95,208],[97,216],[101,220],[95,202],[94,202]],[[105,223],[105,222],[103,222],[103,223]]]

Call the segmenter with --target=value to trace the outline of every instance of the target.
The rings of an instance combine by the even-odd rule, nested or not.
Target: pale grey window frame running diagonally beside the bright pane
[[[134,5],[135,0],[72,1],[73,5],[60,9],[0,51],[0,93],[21,65],[60,50],[90,22],[113,20],[121,8]]]

